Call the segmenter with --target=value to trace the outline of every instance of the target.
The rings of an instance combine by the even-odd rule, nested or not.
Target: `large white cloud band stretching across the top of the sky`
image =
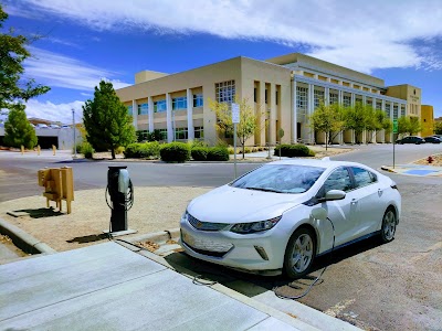
[[[29,6],[96,30],[201,32],[303,44],[313,56],[367,73],[442,65],[414,44],[442,35],[440,0],[23,0],[22,7]]]

